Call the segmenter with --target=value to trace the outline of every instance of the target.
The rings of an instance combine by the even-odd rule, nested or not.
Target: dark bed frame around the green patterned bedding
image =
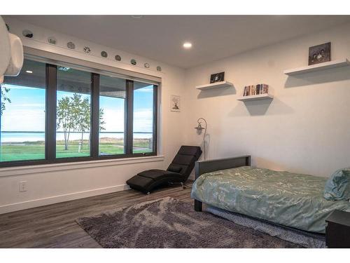
[[[240,166],[251,166],[251,156],[246,155],[246,156],[239,156],[239,157],[232,157],[232,158],[226,158],[226,159],[214,159],[214,160],[209,160],[209,161],[197,161],[195,163],[195,180],[197,180],[198,177],[200,177],[204,173],[210,173],[214,172],[216,170],[225,170],[225,169],[230,169],[230,168],[237,168]],[[202,212],[202,202],[198,201],[195,199],[195,211],[197,212]],[[254,220],[260,220],[262,222],[266,222],[267,224],[273,224],[279,227],[283,227],[284,229],[290,229],[293,231],[297,231],[299,233],[302,233],[307,236],[312,236],[312,237],[324,237],[324,234],[319,234],[319,233],[314,233],[314,232],[309,232],[309,231],[304,231],[300,229],[295,229],[293,227],[287,227],[283,226],[281,224],[276,224],[274,222],[270,222],[267,220],[262,220],[262,219],[257,219],[255,217],[251,217],[248,215],[244,215],[245,217],[252,218]]]

